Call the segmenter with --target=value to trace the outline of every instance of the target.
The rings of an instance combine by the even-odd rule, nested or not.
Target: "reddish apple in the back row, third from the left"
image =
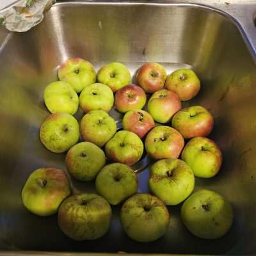
[[[164,87],[166,71],[159,63],[148,62],[137,72],[138,84],[147,93],[154,93]]]

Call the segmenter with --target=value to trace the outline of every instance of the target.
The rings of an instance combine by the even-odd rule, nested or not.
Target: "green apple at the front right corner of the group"
[[[188,230],[204,239],[224,236],[233,222],[231,204],[223,196],[207,189],[200,189],[189,196],[180,213]]]

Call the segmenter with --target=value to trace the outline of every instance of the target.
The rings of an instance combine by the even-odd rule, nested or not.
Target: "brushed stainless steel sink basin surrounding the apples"
[[[205,1],[170,2],[60,2],[31,31],[0,29],[0,249],[8,255],[28,255],[22,250],[35,251],[31,255],[36,251],[256,253],[255,1],[209,1],[218,11],[200,5]],[[146,61],[163,63],[168,73],[177,67],[194,68],[202,90],[183,106],[200,104],[211,111],[215,125],[210,137],[224,157],[220,173],[196,179],[196,189],[213,189],[232,203],[234,225],[226,236],[214,241],[192,236],[182,225],[178,205],[168,207],[171,220],[164,237],[136,243],[125,236],[117,206],[106,236],[75,242],[58,228],[56,216],[40,218],[23,207],[20,192],[33,170],[65,169],[65,154],[46,150],[38,132],[49,115],[44,88],[57,79],[58,65],[76,56],[91,61],[97,70],[109,61],[120,61],[133,74]],[[115,111],[111,114],[122,118]],[[83,113],[76,116],[79,119]],[[148,170],[138,177],[139,192],[148,191]],[[93,182],[72,180],[72,184],[76,192],[94,189]]]

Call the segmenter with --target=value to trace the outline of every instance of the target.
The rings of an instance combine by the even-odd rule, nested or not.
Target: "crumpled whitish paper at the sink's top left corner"
[[[1,1],[1,0],[0,0]],[[20,0],[0,11],[0,24],[10,31],[24,32],[44,19],[44,11],[56,0]]]

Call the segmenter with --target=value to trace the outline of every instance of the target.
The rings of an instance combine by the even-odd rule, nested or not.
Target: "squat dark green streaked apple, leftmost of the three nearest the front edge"
[[[98,239],[108,232],[112,211],[107,200],[96,194],[69,196],[60,205],[58,224],[76,241]]]

